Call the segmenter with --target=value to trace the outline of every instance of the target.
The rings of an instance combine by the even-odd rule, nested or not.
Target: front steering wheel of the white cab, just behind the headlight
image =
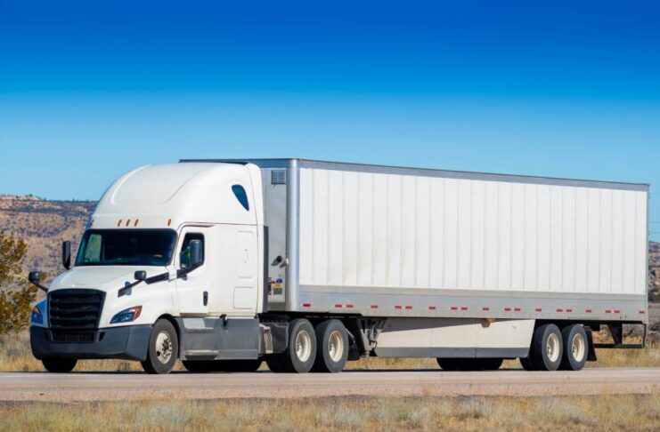
[[[179,341],[175,326],[167,319],[153,325],[147,348],[147,359],[142,363],[147,373],[169,373],[175,367],[179,352]]]

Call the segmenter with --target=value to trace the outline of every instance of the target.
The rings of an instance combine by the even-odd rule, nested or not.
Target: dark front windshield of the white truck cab
[[[89,229],[77,266],[167,266],[176,233],[171,229]]]

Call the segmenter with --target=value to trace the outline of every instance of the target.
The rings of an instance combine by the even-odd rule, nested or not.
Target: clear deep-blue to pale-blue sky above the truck
[[[0,0],[0,193],[299,156],[647,182],[660,222],[654,2],[135,3]]]

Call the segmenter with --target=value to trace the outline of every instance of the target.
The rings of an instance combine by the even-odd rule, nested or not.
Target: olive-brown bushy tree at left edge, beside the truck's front
[[[19,237],[0,231],[0,334],[28,326],[37,288],[25,282],[21,261],[28,246]]]

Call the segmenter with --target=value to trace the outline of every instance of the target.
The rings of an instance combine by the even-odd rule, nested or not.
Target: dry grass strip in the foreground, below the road
[[[322,409],[320,409],[322,407]],[[0,404],[3,430],[657,430],[660,395]]]

